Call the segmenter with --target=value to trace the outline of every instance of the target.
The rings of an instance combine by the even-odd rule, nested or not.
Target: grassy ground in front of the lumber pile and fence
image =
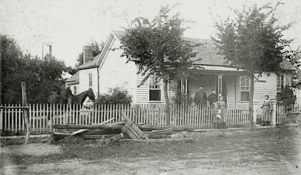
[[[46,164],[66,159],[99,163],[104,158],[137,157],[150,160],[183,160],[191,167],[196,167],[200,161],[204,165],[221,167],[269,164],[284,160],[300,161],[298,154],[301,137],[297,130],[221,130],[190,135],[195,137],[194,142],[108,144],[100,147],[95,144],[85,145],[84,140],[73,138],[56,143],[61,145],[62,153],[40,156],[1,153],[1,157],[13,158],[18,165]]]

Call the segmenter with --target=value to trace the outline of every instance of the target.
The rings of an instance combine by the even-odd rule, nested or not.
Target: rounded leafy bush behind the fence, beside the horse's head
[[[130,104],[132,95],[125,89],[119,87],[109,88],[107,94],[97,94],[95,104]]]

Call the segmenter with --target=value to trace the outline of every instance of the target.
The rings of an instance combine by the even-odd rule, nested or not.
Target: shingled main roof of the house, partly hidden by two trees
[[[121,41],[121,38],[126,35],[124,31],[112,31],[113,35]],[[195,64],[198,65],[216,65],[216,66],[230,66],[230,64],[226,64],[224,60],[224,56],[218,55],[218,49],[216,49],[216,45],[214,41],[208,39],[199,39],[199,38],[187,38],[183,37],[184,40],[190,41],[191,44],[199,44],[203,43],[202,46],[194,47],[193,52],[198,52],[197,56],[191,58],[192,61],[195,61]],[[297,70],[290,62],[284,60],[281,65],[286,70]]]

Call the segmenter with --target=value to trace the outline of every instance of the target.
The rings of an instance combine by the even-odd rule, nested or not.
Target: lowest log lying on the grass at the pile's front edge
[[[184,141],[184,142],[191,142],[193,141],[193,137],[189,138],[179,138],[179,139],[121,139],[116,141],[117,143],[161,143],[161,142],[177,142],[177,141]]]

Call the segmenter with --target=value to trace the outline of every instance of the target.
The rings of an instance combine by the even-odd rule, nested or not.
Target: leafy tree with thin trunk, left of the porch
[[[137,74],[145,76],[139,86],[154,73],[157,75],[155,81],[163,80],[167,125],[170,125],[168,83],[175,77],[187,76],[189,68],[197,67],[189,60],[196,56],[192,48],[197,45],[191,45],[182,38],[185,28],[181,27],[181,23],[184,19],[178,13],[169,16],[169,11],[169,6],[166,6],[152,21],[143,17],[133,20],[125,28],[127,33],[120,46],[123,49],[121,56],[126,56],[127,62],[139,60]]]

